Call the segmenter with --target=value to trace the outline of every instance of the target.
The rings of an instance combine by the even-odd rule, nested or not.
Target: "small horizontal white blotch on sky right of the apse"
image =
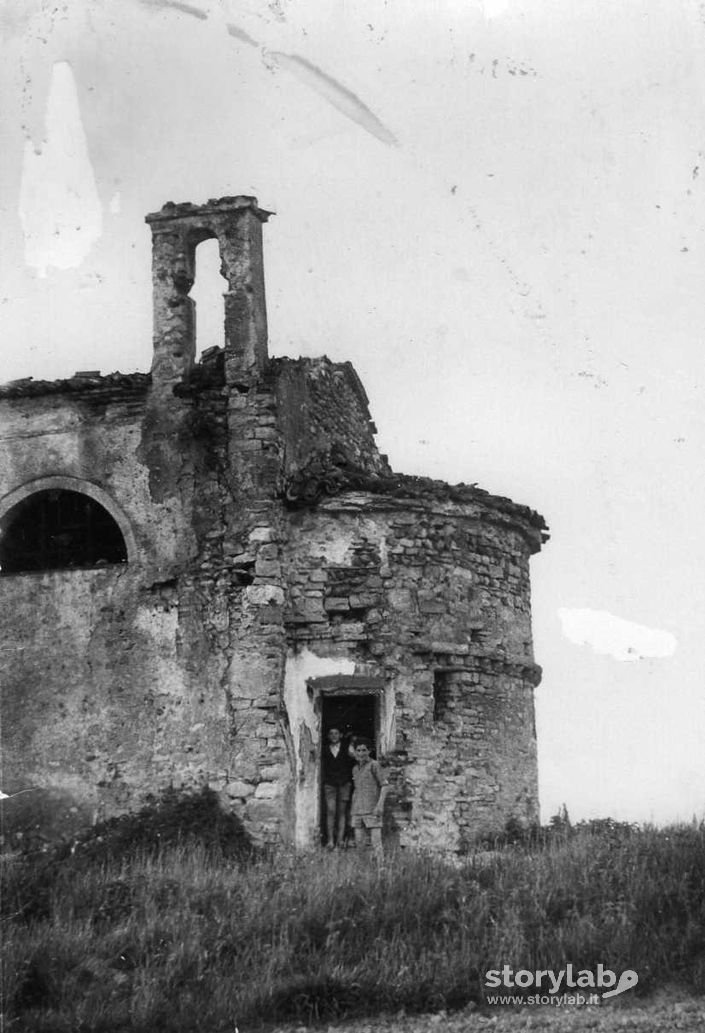
[[[605,609],[558,611],[562,632],[577,646],[590,646],[595,653],[615,660],[663,659],[675,653],[677,641],[670,631],[647,628],[625,621]]]

